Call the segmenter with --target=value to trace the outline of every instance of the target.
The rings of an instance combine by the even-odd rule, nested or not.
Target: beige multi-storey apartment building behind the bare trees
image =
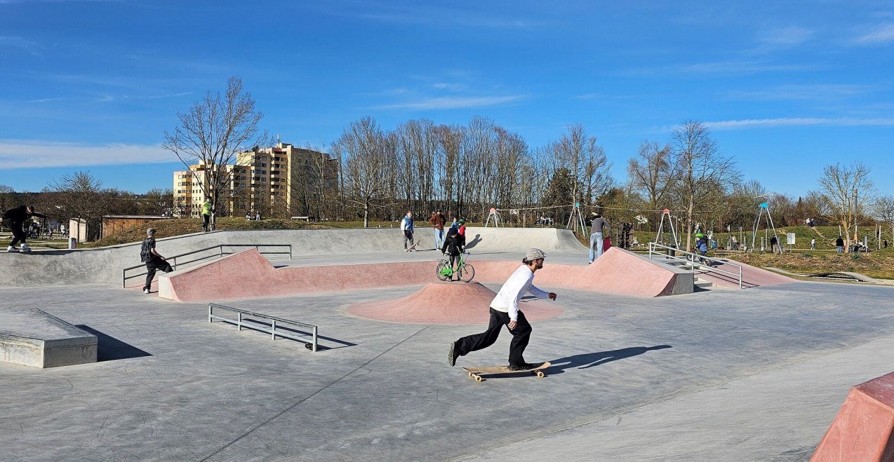
[[[205,199],[210,166],[190,165],[189,171],[173,173],[174,208],[185,216],[198,216]],[[309,205],[321,191],[335,189],[338,161],[324,153],[288,143],[239,153],[234,165],[226,165],[229,190],[221,195],[219,214],[289,217],[312,215]]]

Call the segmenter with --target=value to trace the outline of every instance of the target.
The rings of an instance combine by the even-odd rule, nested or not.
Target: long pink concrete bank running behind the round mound
[[[548,257],[547,257],[548,259]],[[502,283],[520,262],[477,260],[475,281]],[[435,281],[434,262],[275,268],[254,248],[158,276],[158,295],[184,302],[421,285]],[[692,274],[610,248],[593,265],[551,265],[537,272],[546,289],[593,290],[634,297],[691,293]]]

